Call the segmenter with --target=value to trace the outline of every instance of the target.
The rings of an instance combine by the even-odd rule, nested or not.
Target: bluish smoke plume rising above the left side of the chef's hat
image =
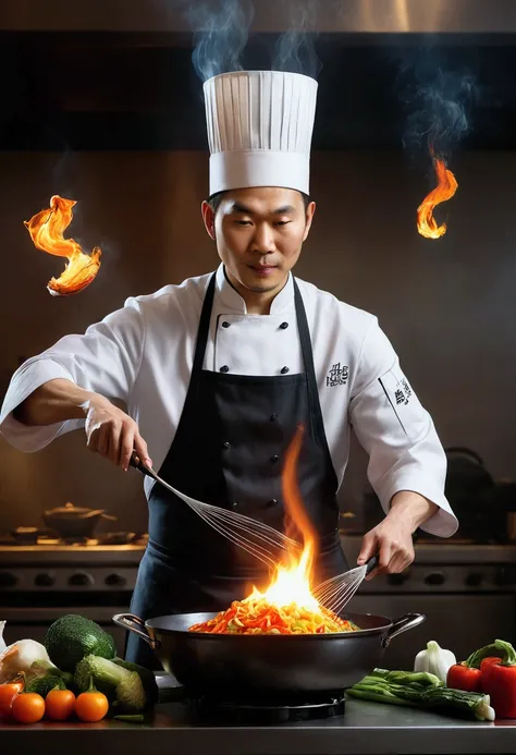
[[[192,60],[199,78],[241,71],[255,14],[251,0],[180,0],[180,5],[194,33]]]

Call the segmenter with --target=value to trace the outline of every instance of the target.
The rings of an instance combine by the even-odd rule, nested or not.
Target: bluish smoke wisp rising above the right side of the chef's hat
[[[314,45],[317,0],[290,0],[287,4],[290,28],[275,44],[272,70],[317,78],[321,70]]]

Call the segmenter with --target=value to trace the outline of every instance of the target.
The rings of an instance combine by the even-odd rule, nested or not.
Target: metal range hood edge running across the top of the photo
[[[2,0],[0,31],[182,34],[189,27],[180,4],[179,0]],[[288,0],[254,4],[253,32],[277,34],[288,28]],[[516,33],[513,0],[317,0],[315,4],[319,33]]]

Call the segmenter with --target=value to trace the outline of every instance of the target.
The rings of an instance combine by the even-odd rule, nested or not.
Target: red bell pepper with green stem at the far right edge
[[[474,653],[468,661],[480,667],[482,691],[491,697],[496,718],[516,718],[516,650],[495,640]]]

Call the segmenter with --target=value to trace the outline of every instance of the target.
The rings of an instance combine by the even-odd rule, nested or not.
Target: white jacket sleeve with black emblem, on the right
[[[444,496],[443,447],[377,320],[363,343],[349,422],[369,454],[368,478],[385,513],[393,496],[411,490],[440,508],[421,529],[440,537],[453,535],[458,523]]]

